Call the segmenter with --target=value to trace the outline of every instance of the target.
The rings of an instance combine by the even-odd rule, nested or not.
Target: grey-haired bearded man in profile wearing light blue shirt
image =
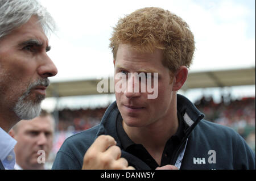
[[[38,1],[0,1],[0,169],[14,169],[16,141],[8,132],[39,115],[48,77],[57,74],[47,55],[53,30],[51,15]]]

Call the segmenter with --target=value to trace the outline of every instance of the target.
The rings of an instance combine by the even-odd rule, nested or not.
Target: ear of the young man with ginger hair
[[[181,66],[174,77],[174,86],[172,90],[177,91],[180,90],[184,85],[185,81],[188,77],[188,68],[186,66]]]

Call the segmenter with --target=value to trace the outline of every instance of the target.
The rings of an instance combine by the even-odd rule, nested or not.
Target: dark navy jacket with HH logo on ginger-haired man
[[[232,128],[202,120],[204,115],[182,95],[177,95],[177,111],[184,118],[185,137],[171,165],[175,165],[188,138],[180,169],[255,169],[255,154]],[[67,138],[56,155],[52,169],[81,169],[86,150],[101,134],[114,137],[117,145],[121,146],[115,123],[119,114],[114,102],[99,125]],[[136,169],[150,169],[141,159],[126,151],[122,150],[122,157]]]

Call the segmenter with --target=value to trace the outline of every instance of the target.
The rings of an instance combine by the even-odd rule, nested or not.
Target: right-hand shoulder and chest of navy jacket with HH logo
[[[188,138],[183,169],[255,169],[255,154],[233,128],[201,120]]]

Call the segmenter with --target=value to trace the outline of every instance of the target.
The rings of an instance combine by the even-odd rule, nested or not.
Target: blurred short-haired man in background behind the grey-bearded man
[[[52,115],[44,110],[39,117],[19,121],[10,131],[11,137],[17,141],[14,148],[16,155],[14,169],[45,169],[43,163],[47,161],[52,149],[54,129],[55,121]],[[38,152],[39,150],[43,151]],[[42,156],[40,161],[39,156]]]

